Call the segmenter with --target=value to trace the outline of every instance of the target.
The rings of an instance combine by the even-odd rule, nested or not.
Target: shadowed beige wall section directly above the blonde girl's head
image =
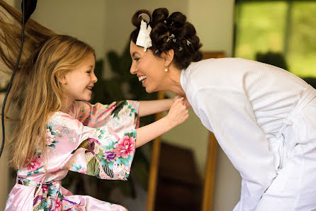
[[[88,42],[101,58],[106,52],[106,8],[106,1],[38,1],[32,18],[57,33]]]

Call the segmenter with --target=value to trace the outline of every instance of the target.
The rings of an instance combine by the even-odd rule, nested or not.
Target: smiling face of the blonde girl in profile
[[[94,74],[94,55],[90,53],[75,69],[64,76],[64,93],[67,101],[90,101],[94,83],[98,81]]]

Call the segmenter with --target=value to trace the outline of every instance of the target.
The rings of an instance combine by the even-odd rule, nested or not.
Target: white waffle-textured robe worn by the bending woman
[[[205,127],[242,176],[234,210],[316,209],[316,90],[289,72],[240,58],[181,72]]]

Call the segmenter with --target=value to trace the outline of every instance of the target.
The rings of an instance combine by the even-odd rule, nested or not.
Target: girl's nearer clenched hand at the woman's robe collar
[[[172,127],[180,125],[182,122],[188,119],[188,109],[184,105],[184,97],[177,98],[171,105],[168,115],[165,117]]]

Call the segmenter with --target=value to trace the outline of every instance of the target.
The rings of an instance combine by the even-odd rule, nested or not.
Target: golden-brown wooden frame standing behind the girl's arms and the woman
[[[209,58],[222,58],[225,57],[225,52],[222,51],[208,51],[203,52],[203,59]],[[158,99],[164,98],[164,91],[159,91]],[[162,118],[162,113],[156,115],[156,120]],[[218,149],[218,142],[212,132],[208,135],[208,156],[205,166],[205,181],[203,187],[203,197],[202,197],[202,211],[210,211],[213,206],[213,189],[215,181],[215,164],[216,155]],[[149,180],[148,180],[148,195],[147,195],[147,211],[154,211],[156,193],[157,193],[157,176],[159,169],[159,154],[161,147],[161,139],[157,137],[153,141],[152,146],[152,158],[149,167]],[[157,211],[157,210],[156,210]]]

